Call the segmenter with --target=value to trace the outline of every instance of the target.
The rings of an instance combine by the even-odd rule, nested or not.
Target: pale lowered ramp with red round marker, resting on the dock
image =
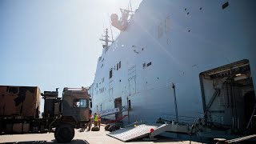
[[[159,123],[151,124],[150,123],[150,124],[142,124],[138,126],[122,128],[120,130],[115,130],[106,135],[113,138],[117,138],[122,142],[127,142],[133,139],[149,136],[150,129],[154,129],[154,132],[151,133],[151,135],[153,134],[154,136],[158,134],[162,134],[165,131],[188,133],[190,130],[188,126],[184,127],[184,126],[178,126],[178,125],[172,125],[172,124],[159,124]]]

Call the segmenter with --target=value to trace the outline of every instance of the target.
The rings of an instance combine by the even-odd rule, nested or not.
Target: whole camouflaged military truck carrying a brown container
[[[91,100],[88,89],[67,88],[40,93],[38,86],[0,86],[0,134],[54,132],[57,142],[70,142],[74,128],[89,122]],[[40,114],[40,100],[44,111]]]

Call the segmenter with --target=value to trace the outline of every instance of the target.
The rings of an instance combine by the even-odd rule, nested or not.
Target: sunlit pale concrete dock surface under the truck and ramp
[[[122,142],[116,138],[107,136],[106,134],[110,133],[109,131],[104,130],[104,126],[101,126],[100,131],[84,131],[79,132],[78,129],[75,129],[74,139],[70,143],[79,143],[79,144],[119,144],[119,143],[128,143],[128,144],[153,144],[153,143],[182,143],[189,144],[189,141],[181,141],[173,138],[166,137],[157,137],[158,140],[154,142],[144,142],[142,138],[133,140],[130,142]],[[0,135],[0,143],[58,143],[55,141],[54,133],[50,134],[15,134],[15,135]],[[193,144],[199,142],[191,142]]]

